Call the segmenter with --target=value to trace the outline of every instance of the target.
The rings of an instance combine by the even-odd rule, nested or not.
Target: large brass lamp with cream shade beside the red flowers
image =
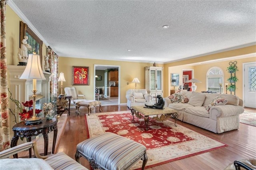
[[[34,125],[42,123],[42,118],[36,117],[36,80],[45,80],[41,63],[40,56],[33,52],[33,54],[28,55],[28,63],[20,79],[32,79],[33,80],[33,117],[26,120],[26,125]]]

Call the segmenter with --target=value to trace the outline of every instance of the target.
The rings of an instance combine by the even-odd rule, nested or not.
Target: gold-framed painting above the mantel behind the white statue
[[[27,24],[20,21],[20,48],[24,36],[28,36],[27,43],[32,47],[32,49],[28,49],[28,54],[32,54],[35,51],[36,54],[40,55],[40,61],[42,61],[43,41],[38,38],[38,36],[28,27]]]

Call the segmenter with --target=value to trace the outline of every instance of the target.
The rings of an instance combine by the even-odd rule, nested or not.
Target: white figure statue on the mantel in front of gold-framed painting
[[[28,63],[28,49],[32,49],[32,47],[27,43],[28,36],[24,36],[22,40],[21,47],[18,51],[18,65],[27,65]]]

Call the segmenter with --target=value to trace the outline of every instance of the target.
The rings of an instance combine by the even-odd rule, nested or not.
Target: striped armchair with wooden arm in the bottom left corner
[[[33,148],[36,158],[9,158],[29,148]],[[58,169],[58,170],[88,170],[63,152],[52,154],[50,156],[41,156],[38,153],[36,142],[27,142],[13,148],[0,152],[0,167],[4,169]],[[1,168],[0,168],[1,169]]]

